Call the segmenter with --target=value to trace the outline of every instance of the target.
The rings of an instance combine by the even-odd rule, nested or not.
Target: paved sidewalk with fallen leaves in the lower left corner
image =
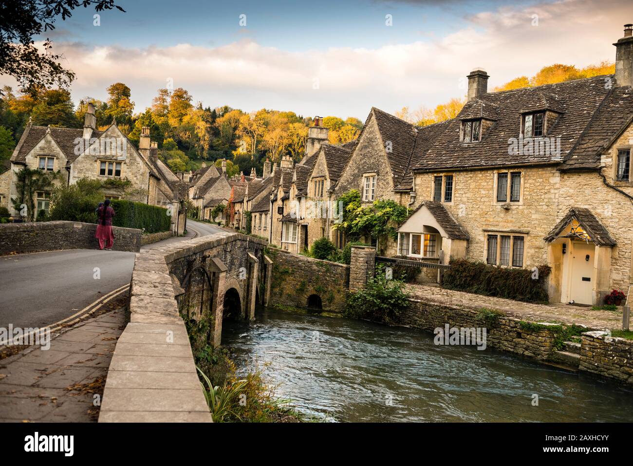
[[[51,336],[46,351],[30,346],[0,360],[0,421],[96,422],[125,309]]]

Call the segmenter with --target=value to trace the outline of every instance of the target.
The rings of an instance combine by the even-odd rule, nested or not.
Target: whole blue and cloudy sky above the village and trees
[[[492,88],[552,63],[613,61],[633,23],[630,0],[116,3],[127,13],[95,26],[82,8],[46,37],[77,73],[75,101],[124,82],[136,112],[170,79],[204,106],[245,111],[364,120],[372,106],[432,108],[463,96],[476,67]]]

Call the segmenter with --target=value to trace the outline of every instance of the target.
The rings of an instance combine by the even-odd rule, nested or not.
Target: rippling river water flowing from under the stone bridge
[[[633,421],[632,389],[491,349],[436,346],[427,332],[272,310],[223,327],[241,370],[265,366],[277,397],[327,420]]]

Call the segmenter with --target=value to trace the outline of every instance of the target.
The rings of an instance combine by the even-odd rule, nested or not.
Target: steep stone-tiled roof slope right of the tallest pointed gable
[[[378,129],[384,144],[391,142],[391,151],[387,151],[387,160],[393,173],[393,184],[398,186],[409,167],[411,152],[415,145],[416,127],[389,113],[372,107]]]

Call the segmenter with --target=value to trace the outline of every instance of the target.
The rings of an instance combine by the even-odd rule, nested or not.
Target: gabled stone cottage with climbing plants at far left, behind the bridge
[[[53,128],[27,125],[11,156],[9,198],[17,199],[17,173],[23,167],[56,173],[54,184],[75,184],[82,178],[104,182],[104,198],[128,198],[153,205],[170,205],[172,230],[184,230],[186,189],[157,155],[149,129],[141,134],[139,149],[113,121],[104,131],[96,129],[94,106],[88,105],[84,127]],[[51,189],[34,193],[35,216],[50,208]],[[11,214],[20,216],[7,206]]]

